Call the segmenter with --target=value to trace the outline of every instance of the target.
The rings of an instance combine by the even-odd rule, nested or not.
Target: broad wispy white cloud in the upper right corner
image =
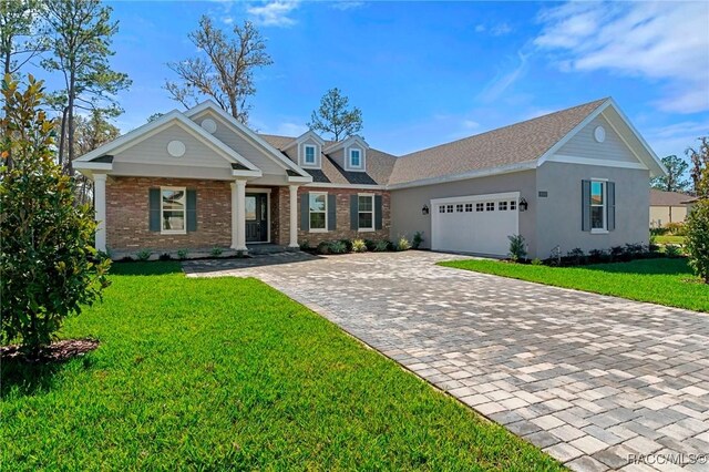
[[[661,81],[661,110],[709,110],[709,3],[569,2],[543,11],[540,21],[534,44],[558,54],[563,71]]]

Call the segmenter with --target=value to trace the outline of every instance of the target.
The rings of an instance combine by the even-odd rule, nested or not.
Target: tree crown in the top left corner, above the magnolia
[[[47,49],[39,32],[43,3],[38,0],[0,0],[2,76],[17,74]]]

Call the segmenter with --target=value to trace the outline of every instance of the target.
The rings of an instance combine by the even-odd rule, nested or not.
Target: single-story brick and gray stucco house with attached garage
[[[531,257],[646,243],[647,181],[665,168],[612,99],[395,157],[351,136],[257,134],[213,102],[173,111],[78,158],[95,183],[96,247],[340,238]]]

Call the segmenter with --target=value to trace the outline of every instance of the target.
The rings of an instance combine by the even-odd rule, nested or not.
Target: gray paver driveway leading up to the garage
[[[651,470],[633,454],[669,470],[669,454],[709,453],[709,316],[435,265],[454,258],[185,270],[260,278],[574,470]]]

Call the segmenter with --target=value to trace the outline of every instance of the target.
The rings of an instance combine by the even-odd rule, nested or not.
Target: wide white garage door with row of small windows
[[[431,248],[507,256],[520,230],[518,192],[431,201]]]

